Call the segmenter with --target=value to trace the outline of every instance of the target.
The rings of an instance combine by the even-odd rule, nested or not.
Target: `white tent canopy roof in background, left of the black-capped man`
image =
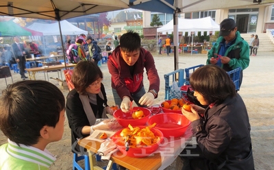
[[[173,32],[173,20],[157,29],[157,32]],[[178,19],[178,32],[215,32],[220,26],[210,16],[203,19]]]

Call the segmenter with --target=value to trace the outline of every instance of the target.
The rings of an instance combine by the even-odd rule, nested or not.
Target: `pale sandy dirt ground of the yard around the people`
[[[164,74],[174,70],[173,56],[155,55],[153,53],[155,64],[161,80],[160,93],[155,104],[159,104],[164,100]],[[206,55],[188,54],[179,56],[179,68],[184,69],[190,66],[206,63]],[[258,56],[250,56],[250,64],[244,71],[242,86],[239,94],[245,101],[249,112],[249,121],[251,123],[251,138],[253,142],[253,157],[255,167],[261,169],[274,169],[274,56],[271,52],[260,52]],[[108,104],[114,105],[112,91],[110,87],[110,73],[108,72],[107,64],[102,64],[103,84],[108,95]],[[20,81],[20,75],[13,73],[14,82]],[[49,77],[58,77],[56,72],[49,73]],[[37,80],[45,80],[43,73],[37,73]],[[64,79],[64,75],[63,75]],[[49,80],[56,86],[58,82]],[[7,78],[8,84],[11,84],[11,78]],[[0,80],[0,90],[5,88],[5,79]],[[145,88],[148,87],[148,81],[145,80]],[[61,89],[61,88],[60,88]],[[62,89],[61,89],[62,90]],[[69,90],[62,90],[66,97]],[[7,138],[0,131],[0,145],[7,142]],[[53,170],[68,170],[72,169],[72,154],[71,154],[71,134],[68,122],[64,125],[64,135],[61,141],[51,143],[47,146],[57,157],[54,165],[50,169]],[[166,168],[166,170],[175,169],[175,162]]]

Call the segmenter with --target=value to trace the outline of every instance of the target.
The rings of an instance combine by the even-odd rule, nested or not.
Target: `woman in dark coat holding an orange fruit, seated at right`
[[[197,145],[186,147],[177,159],[182,169],[253,170],[247,108],[229,75],[214,64],[201,66],[192,73],[190,85],[208,108],[182,109],[197,138]]]

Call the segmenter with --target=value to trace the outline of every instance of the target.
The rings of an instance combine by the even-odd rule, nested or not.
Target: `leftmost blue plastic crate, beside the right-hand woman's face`
[[[185,84],[186,80],[184,79],[184,69],[178,69],[164,75],[164,99],[179,99],[186,93],[182,90],[171,90],[173,82],[177,82],[178,87]]]

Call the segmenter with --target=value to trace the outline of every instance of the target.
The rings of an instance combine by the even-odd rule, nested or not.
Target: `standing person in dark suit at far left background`
[[[12,52],[14,53],[14,57],[16,59],[16,62],[18,64],[18,67],[20,69],[20,75],[21,79],[25,80],[27,79],[27,76],[25,76],[25,48],[20,43],[20,39],[18,36],[14,37],[14,43],[12,44]]]

